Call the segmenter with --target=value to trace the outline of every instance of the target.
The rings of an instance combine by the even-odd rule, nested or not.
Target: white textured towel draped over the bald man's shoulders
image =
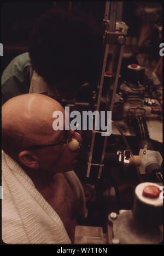
[[[65,177],[79,198],[79,214],[85,216],[83,187],[74,171]],[[19,164],[2,152],[2,239],[5,243],[71,243],[54,209],[38,192]]]

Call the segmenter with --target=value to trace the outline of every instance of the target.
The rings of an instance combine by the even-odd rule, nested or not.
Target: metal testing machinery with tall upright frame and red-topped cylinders
[[[104,131],[97,131],[96,123],[91,132],[84,132],[84,148],[77,172],[79,176],[82,174],[89,220],[77,226],[75,243],[162,241],[161,197],[148,199],[149,203],[142,195],[142,199],[138,199],[138,190],[143,191],[146,185],[154,184],[162,193],[162,141],[159,139],[154,143],[150,138],[154,132],[152,127],[156,126],[162,132],[162,85],[148,79],[145,68],[136,63],[127,65],[126,80],[121,81],[120,69],[128,31],[128,26],[121,21],[122,9],[123,2],[106,2],[104,55],[97,91],[92,92],[90,102],[67,103],[80,110],[112,111],[112,136],[101,137]],[[122,200],[125,194],[126,202],[131,197],[130,203]],[[106,207],[101,208],[102,201]],[[161,222],[143,224],[142,218],[136,217],[138,214],[148,217],[151,222],[152,218],[155,220],[160,216]]]

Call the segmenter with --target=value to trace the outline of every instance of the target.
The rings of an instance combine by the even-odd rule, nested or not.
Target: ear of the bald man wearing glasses
[[[31,169],[38,169],[39,168],[39,161],[36,154],[33,154],[30,151],[21,151],[19,153],[19,160],[21,164],[27,166]]]

